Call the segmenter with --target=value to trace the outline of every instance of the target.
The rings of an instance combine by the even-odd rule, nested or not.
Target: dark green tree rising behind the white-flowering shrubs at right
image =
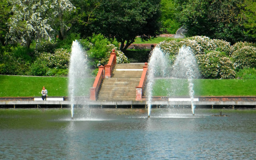
[[[175,0],[186,36],[208,36],[235,43],[245,40],[244,0]]]

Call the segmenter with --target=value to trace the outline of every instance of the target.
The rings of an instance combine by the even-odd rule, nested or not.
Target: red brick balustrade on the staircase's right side
[[[136,87],[136,101],[142,100],[142,93],[143,93],[144,85],[146,82],[147,70],[148,70],[148,63],[145,62],[145,65],[143,66],[142,75],[140,77],[140,83],[138,87]]]

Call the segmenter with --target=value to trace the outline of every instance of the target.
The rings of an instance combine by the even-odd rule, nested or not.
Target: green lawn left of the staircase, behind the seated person
[[[88,95],[93,78],[88,79]],[[42,87],[48,96],[68,96],[68,77],[0,75],[0,97],[40,97]]]

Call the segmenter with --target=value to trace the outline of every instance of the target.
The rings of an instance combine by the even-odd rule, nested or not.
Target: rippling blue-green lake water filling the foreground
[[[229,116],[212,116],[220,111]],[[255,109],[152,109],[149,119],[146,109],[75,109],[70,117],[70,109],[0,109],[0,159],[256,158]]]

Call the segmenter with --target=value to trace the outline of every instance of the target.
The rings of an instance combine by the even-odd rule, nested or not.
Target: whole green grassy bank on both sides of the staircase
[[[88,78],[86,93],[94,82]],[[188,82],[184,79],[157,79],[153,96],[168,96],[176,86],[176,96],[188,96]],[[0,75],[0,97],[38,97],[42,86],[48,96],[68,96],[67,77],[32,77]],[[195,79],[195,96],[256,96],[256,79]]]

